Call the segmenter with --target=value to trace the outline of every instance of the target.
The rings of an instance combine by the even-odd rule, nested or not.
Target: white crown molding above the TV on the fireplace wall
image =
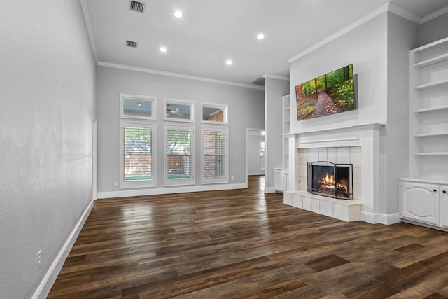
[[[378,15],[381,15],[381,13],[385,13],[388,11],[389,4],[386,3],[379,8],[372,11],[372,13],[369,13],[368,15],[365,15],[365,17],[360,18],[356,22],[351,23],[350,25],[340,29],[339,31],[335,32],[334,34],[328,36],[326,39],[323,39],[322,41],[314,44],[314,46],[311,46],[307,48],[306,50],[298,53],[294,57],[291,57],[290,59],[286,60],[289,63],[295,62],[295,60],[298,60],[299,58],[304,57],[305,55],[317,50],[318,48],[321,48],[322,46],[325,46],[327,43],[330,43],[331,41],[334,41],[338,37],[346,34],[347,32],[351,32],[351,30],[356,29],[357,27],[360,27],[360,25],[365,24],[366,22],[372,20],[373,18],[377,17]]]

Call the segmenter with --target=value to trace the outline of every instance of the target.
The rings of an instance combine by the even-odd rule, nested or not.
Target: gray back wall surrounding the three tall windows
[[[120,190],[119,181],[120,92],[157,97],[157,187]],[[111,67],[97,67],[97,118],[98,118],[98,197],[116,197],[130,194],[157,194],[185,192],[193,189],[164,188],[164,107],[163,99],[195,101],[196,114],[196,186],[201,185],[200,116],[201,102],[228,104],[229,118],[229,179],[228,185],[246,184],[246,128],[264,129],[263,90],[234,85],[194,81],[186,78],[160,76],[139,71]],[[222,188],[225,186],[220,185]],[[210,188],[209,185],[205,186]],[[165,189],[165,190],[163,190]],[[202,190],[202,189],[194,189]]]

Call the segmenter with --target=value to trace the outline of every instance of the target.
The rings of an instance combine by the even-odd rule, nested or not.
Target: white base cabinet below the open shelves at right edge
[[[404,220],[448,228],[448,186],[428,181],[402,180],[400,196]]]

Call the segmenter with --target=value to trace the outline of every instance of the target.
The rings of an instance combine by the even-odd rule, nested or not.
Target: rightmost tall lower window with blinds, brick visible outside
[[[228,181],[228,129],[202,127],[202,183]]]

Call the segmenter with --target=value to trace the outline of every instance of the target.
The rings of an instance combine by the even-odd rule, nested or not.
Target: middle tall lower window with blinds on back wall
[[[165,185],[195,183],[195,129],[165,125]]]

